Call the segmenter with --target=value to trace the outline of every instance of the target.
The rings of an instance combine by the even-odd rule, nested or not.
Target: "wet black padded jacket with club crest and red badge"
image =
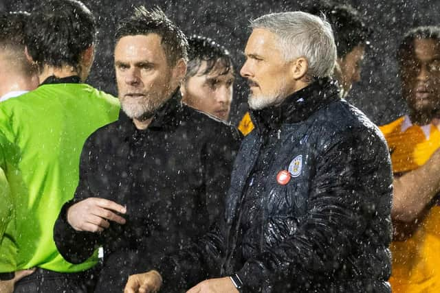
[[[391,292],[393,176],[377,127],[330,80],[251,116],[225,213],[162,259],[165,291],[237,274],[242,292]]]

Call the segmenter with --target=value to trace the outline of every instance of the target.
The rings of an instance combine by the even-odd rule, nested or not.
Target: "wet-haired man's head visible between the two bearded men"
[[[180,91],[182,102],[228,121],[234,86],[234,66],[229,51],[211,38],[188,38],[188,70]]]

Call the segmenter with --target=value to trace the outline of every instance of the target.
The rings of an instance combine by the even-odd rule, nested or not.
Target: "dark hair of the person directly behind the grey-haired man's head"
[[[338,58],[343,58],[358,45],[369,45],[369,38],[373,31],[353,6],[331,1],[318,1],[307,12],[317,16],[324,14],[325,19],[331,24]]]

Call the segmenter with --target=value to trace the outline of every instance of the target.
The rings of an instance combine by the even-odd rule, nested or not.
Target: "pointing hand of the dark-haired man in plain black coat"
[[[76,231],[102,232],[109,228],[109,220],[125,224],[125,219],[114,212],[126,213],[126,209],[104,198],[87,198],[69,207],[67,222]]]

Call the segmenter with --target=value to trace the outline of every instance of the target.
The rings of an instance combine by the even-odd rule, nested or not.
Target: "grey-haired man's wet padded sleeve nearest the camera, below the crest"
[[[300,285],[305,276],[331,276],[355,250],[354,239],[366,233],[366,225],[389,220],[393,179],[386,145],[377,134],[362,139],[335,134],[316,161],[307,217],[292,237],[245,262],[237,272],[243,292],[272,292],[281,280]],[[384,244],[386,231],[381,236],[377,242]],[[365,245],[365,253],[380,248]]]

